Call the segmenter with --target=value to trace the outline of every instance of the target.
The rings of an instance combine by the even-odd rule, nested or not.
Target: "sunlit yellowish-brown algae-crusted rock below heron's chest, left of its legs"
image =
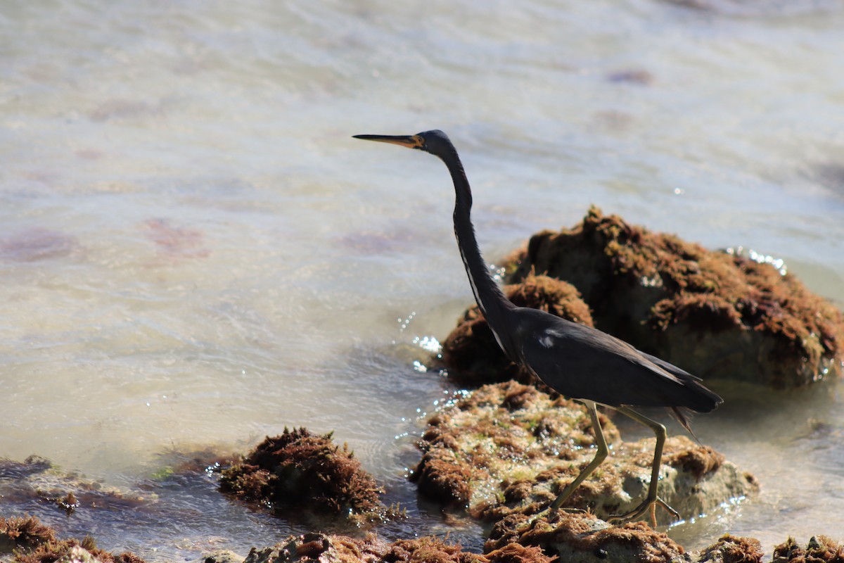
[[[618,430],[603,414],[601,424],[607,441],[617,441]],[[500,483],[535,477],[558,466],[560,457],[579,458],[593,443],[582,406],[517,382],[491,384],[430,417],[425,455],[411,479],[431,500],[472,512],[496,504]]]

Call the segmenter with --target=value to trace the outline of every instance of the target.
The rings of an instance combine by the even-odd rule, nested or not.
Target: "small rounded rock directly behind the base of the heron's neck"
[[[542,309],[572,322],[592,325],[592,314],[571,284],[548,276],[527,275],[519,284],[507,285],[504,294],[517,306]],[[501,351],[490,325],[478,306],[463,313],[442,343],[442,365],[452,381],[469,385],[506,382],[527,383],[533,376],[513,364]]]

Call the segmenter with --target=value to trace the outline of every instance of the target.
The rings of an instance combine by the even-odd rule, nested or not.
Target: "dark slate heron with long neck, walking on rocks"
[[[586,405],[592,418],[597,452],[577,478],[551,503],[550,509],[560,508],[607,457],[607,441],[603,437],[595,408],[595,405],[601,404],[646,425],[657,436],[651,485],[645,500],[630,512],[614,515],[610,519],[622,521],[639,518],[656,505],[663,506],[674,517],[678,517],[677,512],[657,496],[665,426],[630,407],[665,407],[691,433],[689,422],[681,409],[708,413],[722,403],[722,399],[704,387],[700,378],[667,361],[645,354],[619,338],[545,311],[513,305],[498,284],[495,284],[481,257],[469,216],[472,191],[457,150],[446,133],[435,130],[410,136],[355,135],[354,138],[424,150],[446,163],[457,196],[454,205],[457,248],[463,257],[475,300],[495,340],[513,362],[527,368],[541,382],[565,397]]]

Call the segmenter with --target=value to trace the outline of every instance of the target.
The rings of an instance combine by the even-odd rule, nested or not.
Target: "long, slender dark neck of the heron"
[[[490,269],[484,263],[484,257],[481,256],[478,247],[478,241],[475,239],[474,227],[470,212],[472,210],[472,190],[469,188],[469,182],[466,178],[466,173],[463,171],[463,165],[457,160],[455,163],[446,163],[448,171],[452,173],[452,180],[454,181],[454,191],[456,201],[454,204],[454,235],[457,236],[457,247],[460,249],[460,255],[463,257],[463,265],[466,266],[466,273],[468,274],[469,284],[472,285],[472,291],[475,300],[478,302],[480,310],[484,313],[484,317],[492,328],[495,334],[495,339],[502,349],[505,348],[502,344],[498,330],[503,327],[506,322],[507,311],[513,309],[515,306],[507,300],[504,293],[501,292],[495,279],[490,274]],[[508,352],[506,349],[505,352]]]

